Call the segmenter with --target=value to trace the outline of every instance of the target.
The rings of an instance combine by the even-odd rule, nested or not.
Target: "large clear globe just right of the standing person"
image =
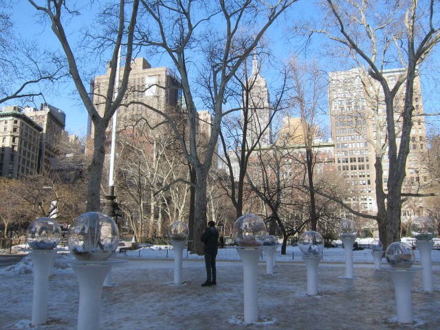
[[[232,228],[232,237],[237,245],[243,247],[259,247],[266,235],[266,225],[255,214],[245,214],[236,219]]]

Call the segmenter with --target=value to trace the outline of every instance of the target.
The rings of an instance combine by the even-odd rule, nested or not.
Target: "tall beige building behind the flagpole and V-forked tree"
[[[110,71],[111,63],[107,63],[107,72],[102,76],[96,76],[91,86],[93,102],[100,115],[104,113],[105,98],[103,95],[106,94],[108,88]],[[121,68],[121,77],[123,72],[124,67]],[[180,91],[179,79],[170,69],[151,67],[145,58],[135,58],[131,63],[129,85],[123,100],[124,104],[129,102],[133,104],[118,109],[118,131],[133,128],[135,123],[148,122],[148,126],[154,127],[159,122],[163,122],[162,115],[140,103],[148,104],[149,107],[169,115],[175,115],[178,113],[177,100],[179,100]],[[111,130],[111,126],[110,123],[108,130]],[[87,137],[91,139],[93,136],[94,128],[90,124]]]

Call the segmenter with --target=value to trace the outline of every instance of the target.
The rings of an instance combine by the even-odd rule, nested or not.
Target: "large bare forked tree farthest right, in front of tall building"
[[[354,58],[359,67],[382,87],[386,107],[389,175],[384,192],[382,158],[376,155],[376,201],[380,239],[384,245],[400,239],[402,186],[406,177],[406,159],[410,151],[410,131],[414,117],[414,84],[417,67],[439,43],[437,1],[322,1],[328,10],[322,25],[307,30],[325,34],[334,41],[331,54]],[[341,47],[338,47],[340,45]],[[349,57],[350,56],[350,57]],[[403,67],[393,83],[384,70]],[[401,133],[395,126],[399,91],[404,89]],[[400,143],[398,143],[400,137]]]

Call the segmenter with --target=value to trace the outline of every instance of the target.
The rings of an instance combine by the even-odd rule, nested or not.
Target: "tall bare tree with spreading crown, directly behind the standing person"
[[[165,113],[160,114],[170,122],[186,159],[197,175],[194,230],[190,232],[194,241],[192,252],[197,254],[203,253],[203,245],[197,238],[206,225],[206,185],[221,129],[227,85],[267,28],[294,2],[281,0],[268,4],[244,0],[229,3],[219,0],[202,4],[181,0],[166,3],[142,0],[143,10],[148,14],[148,21],[144,22],[148,30],[140,28],[142,33],[138,42],[168,55],[181,78],[188,114],[189,142],[186,143],[171,118]],[[255,21],[260,22],[258,29],[255,28]],[[242,31],[248,34],[243,36]],[[197,52],[205,55],[207,65],[203,68],[195,63],[193,54]],[[193,99],[195,87],[190,80],[194,70],[199,70],[200,76],[209,82],[206,86],[210,87],[208,95],[213,113],[210,140],[203,158],[197,151],[197,111]]]

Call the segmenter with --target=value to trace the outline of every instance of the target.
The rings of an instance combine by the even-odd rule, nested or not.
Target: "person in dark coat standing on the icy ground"
[[[217,256],[219,239],[219,231],[215,228],[214,221],[208,222],[208,228],[201,235],[201,241],[205,243],[205,265],[206,265],[206,282],[202,287],[210,287],[211,285],[217,285],[217,270],[215,268],[215,257]]]

